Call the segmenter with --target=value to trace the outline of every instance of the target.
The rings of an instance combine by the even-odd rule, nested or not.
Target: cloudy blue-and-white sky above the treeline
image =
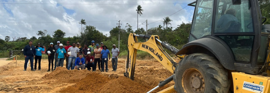
[[[195,0],[0,0],[0,38],[38,37],[36,33],[46,29],[48,34],[60,29],[65,37],[80,31],[81,19],[87,25],[108,34],[119,20],[122,27],[129,23],[137,27],[136,7],[141,5],[143,15],[139,15],[139,25],[148,20],[148,28],[162,25],[161,20],[170,16],[172,27],[182,22],[191,22],[194,7],[187,6]],[[158,22],[156,22],[158,21]],[[144,23],[146,24],[146,22]],[[146,25],[140,25],[144,27]],[[136,30],[133,29],[134,31]],[[12,39],[12,38],[11,38]]]

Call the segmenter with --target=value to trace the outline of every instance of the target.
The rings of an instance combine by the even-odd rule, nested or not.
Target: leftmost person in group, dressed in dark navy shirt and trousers
[[[35,71],[33,64],[34,64],[34,57],[36,55],[36,50],[35,50],[35,46],[32,46],[32,44],[33,42],[29,41],[29,45],[26,45],[23,50],[24,57],[25,57],[24,71],[26,71],[27,63],[29,60],[30,60],[31,71]]]

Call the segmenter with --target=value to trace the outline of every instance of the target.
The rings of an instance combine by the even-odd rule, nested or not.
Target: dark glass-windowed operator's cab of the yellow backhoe
[[[207,39],[210,45],[196,46],[209,50],[226,69],[259,73],[267,58],[270,26],[262,25],[266,18],[257,0],[197,0],[188,5],[195,7],[188,39],[194,44],[189,45],[195,47],[201,43],[198,40],[211,38]]]

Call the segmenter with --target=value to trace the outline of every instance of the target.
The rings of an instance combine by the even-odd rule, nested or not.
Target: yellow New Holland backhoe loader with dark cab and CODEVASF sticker
[[[188,43],[178,50],[155,35],[128,38],[124,76],[134,80],[137,50],[150,53],[175,85],[160,93],[270,93],[270,25],[258,0],[197,0]],[[263,20],[263,21],[262,21]],[[137,38],[148,39],[138,42]],[[164,50],[181,60],[175,62]]]

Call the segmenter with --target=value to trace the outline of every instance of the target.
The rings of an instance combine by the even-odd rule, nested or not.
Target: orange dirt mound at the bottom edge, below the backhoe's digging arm
[[[105,84],[99,93],[145,93],[148,88],[132,81],[131,79],[119,76],[119,78]]]

